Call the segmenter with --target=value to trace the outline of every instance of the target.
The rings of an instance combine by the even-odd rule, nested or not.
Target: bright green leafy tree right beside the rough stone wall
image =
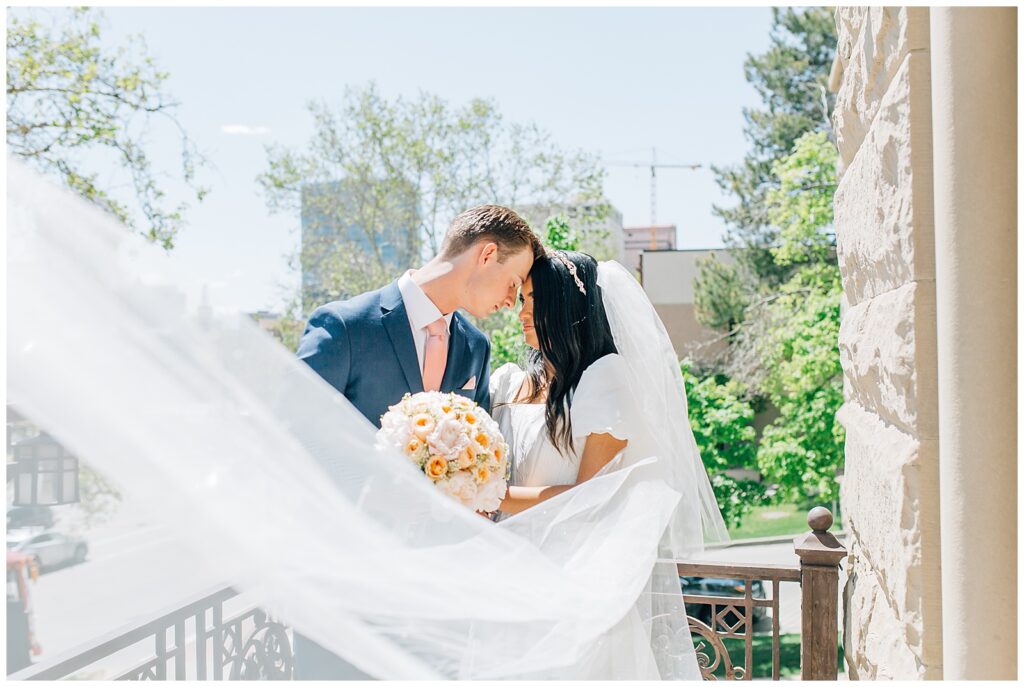
[[[836,157],[824,133],[811,132],[773,166],[778,186],[766,202],[780,228],[772,254],[796,271],[748,313],[746,331],[734,345],[757,361],[759,391],[779,410],[761,438],[758,466],[787,500],[834,500],[843,464],[845,435],[836,421],[843,403],[842,283],[831,206]]]

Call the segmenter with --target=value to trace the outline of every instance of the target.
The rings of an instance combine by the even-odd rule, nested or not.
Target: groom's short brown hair
[[[535,259],[544,253],[540,239],[514,210],[500,205],[478,205],[452,220],[441,245],[441,257],[460,255],[481,240],[498,245],[500,262],[523,249],[529,249]]]

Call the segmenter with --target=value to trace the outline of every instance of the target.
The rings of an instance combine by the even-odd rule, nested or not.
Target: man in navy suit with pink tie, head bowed
[[[490,344],[459,309],[512,307],[543,248],[515,212],[481,205],[456,217],[441,252],[378,291],[313,311],[297,354],[370,422],[406,393],[455,391],[490,410]],[[295,679],[369,676],[295,634]]]

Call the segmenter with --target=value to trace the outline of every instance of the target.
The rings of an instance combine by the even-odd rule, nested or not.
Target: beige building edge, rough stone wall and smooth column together
[[[1015,8],[841,8],[854,679],[1014,679]]]

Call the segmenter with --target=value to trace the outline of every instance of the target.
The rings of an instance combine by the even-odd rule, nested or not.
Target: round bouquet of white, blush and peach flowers
[[[381,418],[377,438],[453,499],[475,511],[498,510],[509,475],[508,444],[498,423],[465,396],[407,393]]]

